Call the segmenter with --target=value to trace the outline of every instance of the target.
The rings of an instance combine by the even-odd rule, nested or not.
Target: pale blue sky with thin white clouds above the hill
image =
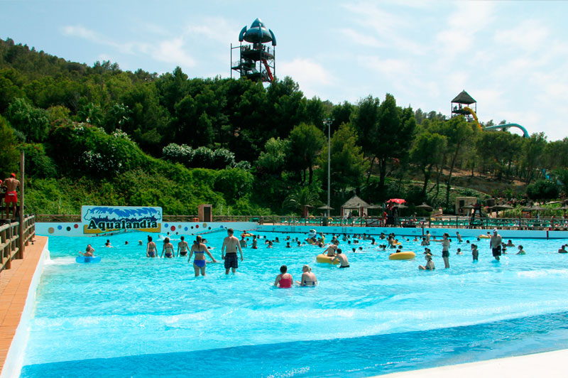
[[[308,98],[391,93],[400,106],[449,115],[466,90],[480,121],[568,136],[566,1],[0,0],[0,9],[3,40],[190,77],[229,77],[231,43],[261,18],[278,43],[276,75]]]

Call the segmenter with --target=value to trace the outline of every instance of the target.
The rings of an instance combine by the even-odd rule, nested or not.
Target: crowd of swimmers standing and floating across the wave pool
[[[221,249],[221,259],[224,260],[224,267],[225,267],[225,274],[229,274],[229,271],[232,271],[233,274],[236,272],[236,269],[239,268],[239,254],[240,254],[240,261],[243,261],[243,248],[248,246],[248,242],[246,237],[252,237],[251,242],[251,249],[258,249],[258,240],[264,239],[264,244],[266,244],[266,248],[273,248],[273,244],[278,243],[280,244],[280,239],[275,237],[275,239],[267,239],[266,237],[261,237],[258,235],[247,234],[244,231],[241,234],[241,239],[239,240],[237,237],[234,236],[234,229],[229,228],[227,229],[227,236],[223,240],[223,245]],[[318,247],[325,248],[324,254],[325,256],[331,258],[332,263],[335,261],[339,262],[339,268],[349,268],[349,259],[346,257],[346,254],[342,253],[342,249],[339,248],[340,241],[342,239],[343,242],[346,242],[348,245],[357,245],[359,244],[359,240],[369,240],[371,241],[371,245],[378,247],[380,251],[386,251],[386,249],[394,249],[393,253],[400,253],[403,252],[402,242],[410,242],[410,239],[406,239],[402,237],[399,239],[396,238],[394,233],[392,234],[381,234],[378,236],[379,242],[376,241],[374,237],[366,234],[354,234],[353,237],[349,236],[348,234],[332,234],[332,240],[329,244],[324,244],[325,237],[324,234],[320,233],[320,237],[317,238],[314,235],[311,235],[305,240],[300,240],[299,237],[295,239],[287,236],[283,239],[285,242],[285,248],[293,248],[293,247],[305,247],[307,244],[310,245],[317,245]],[[461,235],[459,232],[456,232],[456,239],[458,243],[463,242]],[[497,229],[493,229],[493,234],[487,232],[487,234],[481,234],[477,237],[477,240],[480,241],[481,239],[489,239],[489,247],[491,249],[491,254],[496,261],[501,259],[502,254],[507,254],[507,249],[510,247],[515,247],[515,244],[511,240],[508,240],[507,243],[503,242],[501,235],[498,233]],[[384,244],[382,244],[384,241]],[[432,250],[429,248],[430,242],[438,242],[442,247],[442,260],[444,261],[444,268],[449,269],[449,250],[450,244],[452,239],[450,239],[449,234],[444,233],[442,235],[442,239],[436,239],[429,231],[423,237],[415,237],[413,242],[420,242],[422,247],[425,247],[423,254],[425,255],[426,264],[418,266],[420,270],[434,270],[435,264],[432,260],[432,257],[435,255],[432,254]],[[175,252],[175,248],[170,241],[169,232],[168,237],[163,239],[163,246],[162,250],[158,256],[158,247],[156,246],[155,242],[153,242],[153,238],[148,236],[148,242],[146,244],[146,257],[149,258],[166,258],[171,259],[174,257],[187,257],[187,261],[190,262],[192,257],[193,259],[193,269],[195,271],[195,276],[205,276],[205,268],[207,264],[215,264],[218,263],[216,259],[214,259],[209,249],[214,249],[214,247],[207,247],[206,245],[207,239],[202,238],[200,235],[195,237],[195,241],[193,242],[192,246],[190,247],[189,244],[185,241],[185,237],[180,237],[180,242],[178,242],[178,249]],[[306,244],[307,243],[307,244]],[[128,242],[125,242],[128,244]],[[466,240],[466,244],[469,244],[471,249],[471,257],[473,261],[478,261],[479,259],[479,250],[477,244],[469,242]],[[107,242],[104,244],[105,247],[112,247],[111,242],[107,239]],[[138,245],[143,245],[141,240],[138,240]],[[565,254],[568,253],[566,249],[568,244],[563,244],[562,247],[558,249],[558,253]],[[523,249],[522,245],[517,246],[518,252],[516,254],[523,255],[525,254],[525,250]],[[363,247],[353,247],[351,249],[352,253],[363,252]],[[79,252],[84,257],[94,257],[94,248],[91,244],[87,245],[87,249],[85,252]],[[463,254],[461,252],[461,248],[457,249],[457,255]],[[206,255],[211,259],[211,261],[207,261]],[[294,281],[290,273],[288,273],[288,267],[283,265],[280,266],[280,274],[276,276],[274,286],[280,288],[289,288],[293,285]],[[295,283],[299,286],[315,286],[317,285],[317,279],[315,274],[312,272],[312,268],[309,265],[304,265],[302,267],[302,279],[300,281],[295,281]]]

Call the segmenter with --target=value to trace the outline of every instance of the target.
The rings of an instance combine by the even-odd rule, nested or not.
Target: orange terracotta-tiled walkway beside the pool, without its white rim
[[[26,306],[26,298],[28,298],[35,268],[38,266],[47,242],[47,237],[35,236],[34,244],[26,247],[24,258],[13,260],[11,269],[0,273],[0,365],[2,369],[4,369],[6,355],[16,335],[23,308]]]

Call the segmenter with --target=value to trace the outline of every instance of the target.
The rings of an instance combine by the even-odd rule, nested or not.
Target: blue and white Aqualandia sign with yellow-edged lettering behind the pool
[[[129,229],[160,232],[162,207],[82,206],[81,220],[85,234]]]

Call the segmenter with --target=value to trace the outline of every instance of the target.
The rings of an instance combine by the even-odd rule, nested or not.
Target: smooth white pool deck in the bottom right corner
[[[375,378],[564,378],[568,377],[568,350],[536,353],[518,357],[498,358],[469,364],[410,370]]]

